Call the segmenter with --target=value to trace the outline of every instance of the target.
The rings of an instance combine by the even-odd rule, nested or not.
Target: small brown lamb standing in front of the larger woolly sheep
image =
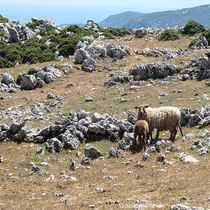
[[[148,139],[149,139],[149,125],[147,121],[145,120],[139,120],[135,124],[134,128],[134,148],[136,148],[136,141],[140,142],[140,144],[143,143],[144,146],[144,151],[146,150],[146,142],[148,144]],[[146,142],[145,142],[146,139]]]

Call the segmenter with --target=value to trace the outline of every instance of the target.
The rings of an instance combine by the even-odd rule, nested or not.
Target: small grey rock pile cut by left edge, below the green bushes
[[[0,92],[14,93],[18,86],[13,83],[14,78],[10,74],[2,74],[2,81],[0,82]]]

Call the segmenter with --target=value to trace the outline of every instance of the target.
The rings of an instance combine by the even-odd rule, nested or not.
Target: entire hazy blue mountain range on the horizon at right
[[[204,25],[206,28],[210,28],[210,4],[165,12],[125,12],[122,14],[109,16],[107,19],[101,21],[99,25],[117,28],[165,28],[166,26],[183,26],[191,20],[195,20]]]

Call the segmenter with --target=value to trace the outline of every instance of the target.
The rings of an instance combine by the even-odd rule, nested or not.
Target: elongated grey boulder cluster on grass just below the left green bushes
[[[18,75],[17,84],[20,85],[22,90],[42,88],[45,84],[49,84],[62,76],[61,71],[53,66],[45,66],[41,69],[36,68],[36,70],[37,73],[34,74],[20,73]]]

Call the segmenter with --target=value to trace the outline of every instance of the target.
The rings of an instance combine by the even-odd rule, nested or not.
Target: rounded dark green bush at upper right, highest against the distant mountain
[[[200,23],[196,21],[190,21],[183,28],[182,33],[185,35],[193,36],[194,34],[204,32],[205,30],[205,27]]]

